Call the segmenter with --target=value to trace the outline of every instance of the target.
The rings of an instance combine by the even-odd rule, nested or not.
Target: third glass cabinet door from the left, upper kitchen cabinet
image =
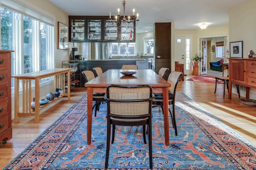
[[[114,20],[104,19],[103,26],[103,41],[117,41],[118,40],[118,29],[116,27],[117,22]]]

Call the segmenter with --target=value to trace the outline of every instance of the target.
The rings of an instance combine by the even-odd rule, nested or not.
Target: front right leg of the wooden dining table
[[[169,103],[168,103],[168,88],[162,89],[164,103],[164,141],[165,145],[169,146]]]

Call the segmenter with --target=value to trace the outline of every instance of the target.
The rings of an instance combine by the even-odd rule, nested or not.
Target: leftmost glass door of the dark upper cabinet
[[[70,41],[85,41],[85,20],[71,20]]]

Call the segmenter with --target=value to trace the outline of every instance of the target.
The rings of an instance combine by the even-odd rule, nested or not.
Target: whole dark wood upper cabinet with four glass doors
[[[135,28],[117,28],[120,25],[115,20],[108,20],[108,16],[68,18],[69,42],[135,42]]]

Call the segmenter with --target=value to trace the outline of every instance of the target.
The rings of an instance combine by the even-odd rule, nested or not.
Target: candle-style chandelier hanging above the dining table
[[[115,23],[118,23],[118,24],[115,24],[115,26],[117,28],[121,28],[121,27],[126,27],[126,29],[128,28],[135,28],[137,25],[138,25],[138,21],[139,21],[139,14],[137,13],[137,15],[134,15],[134,12],[135,12],[135,9],[132,10],[133,12],[133,15],[132,16],[128,16],[128,21],[126,20],[126,16],[125,16],[125,0],[122,1],[122,5],[123,5],[123,8],[124,8],[124,15],[123,15],[123,18],[122,18],[122,21],[119,19],[121,16],[120,16],[120,8],[118,8],[117,10],[117,15],[114,17],[114,22]],[[109,12],[109,18],[108,20],[113,20],[111,18],[111,12]],[[131,22],[132,21],[132,22]],[[136,22],[137,21],[137,22]],[[119,26],[118,26],[119,25]]]

